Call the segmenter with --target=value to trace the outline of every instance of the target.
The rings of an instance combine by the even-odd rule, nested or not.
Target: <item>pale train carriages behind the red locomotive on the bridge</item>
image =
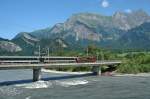
[[[38,57],[38,56],[0,56],[0,64],[9,64],[9,63],[70,63],[76,62],[77,57]]]

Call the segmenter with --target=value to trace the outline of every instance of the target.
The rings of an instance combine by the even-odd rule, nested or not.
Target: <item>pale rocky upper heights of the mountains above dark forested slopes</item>
[[[150,19],[149,15],[142,11],[125,13],[118,11],[112,16],[105,16],[95,13],[73,14],[64,23],[58,23],[51,29],[32,32],[39,39],[63,38],[70,36],[76,41],[87,39],[102,41],[106,38],[117,39],[119,31],[127,31],[135,28]]]

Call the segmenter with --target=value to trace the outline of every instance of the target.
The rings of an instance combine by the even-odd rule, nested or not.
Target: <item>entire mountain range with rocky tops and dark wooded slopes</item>
[[[7,42],[4,46],[3,41]],[[8,49],[8,45],[11,47]],[[0,49],[33,54],[43,49],[82,49],[89,44],[108,49],[150,49],[150,16],[143,10],[116,12],[112,16],[78,13],[64,23],[33,32],[21,32],[12,40],[0,38]],[[9,43],[9,44],[8,44]],[[15,47],[14,47],[15,46]],[[0,51],[1,51],[0,50]]]

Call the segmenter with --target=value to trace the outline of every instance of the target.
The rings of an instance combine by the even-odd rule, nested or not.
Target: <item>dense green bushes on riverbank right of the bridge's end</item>
[[[128,53],[123,60],[123,64],[117,67],[119,73],[149,73],[150,54],[148,52]]]

